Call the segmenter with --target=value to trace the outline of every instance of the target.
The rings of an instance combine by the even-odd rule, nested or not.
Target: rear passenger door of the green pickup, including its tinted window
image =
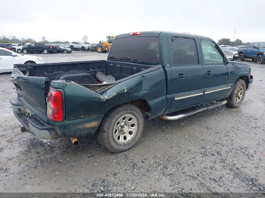
[[[170,111],[200,104],[204,88],[204,67],[202,65],[198,38],[168,34],[170,62],[172,69],[172,102]]]

